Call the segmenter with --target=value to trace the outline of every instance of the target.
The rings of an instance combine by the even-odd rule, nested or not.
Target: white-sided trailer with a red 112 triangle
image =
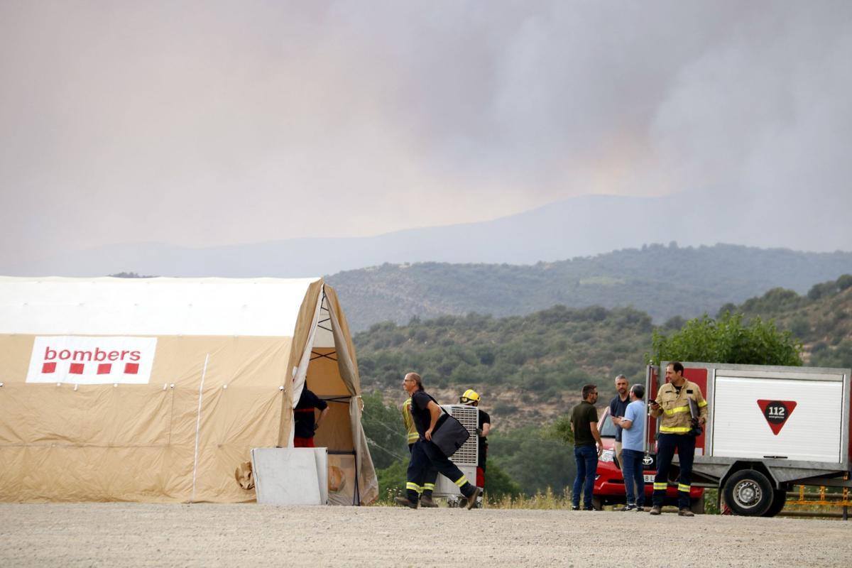
[[[661,365],[665,369],[666,363]],[[792,485],[852,487],[849,369],[684,363],[709,416],[696,439],[693,485],[718,487],[734,513],[774,516]],[[658,370],[648,368],[648,400]],[[648,447],[657,421],[648,418]],[[671,468],[670,481],[678,468]]]

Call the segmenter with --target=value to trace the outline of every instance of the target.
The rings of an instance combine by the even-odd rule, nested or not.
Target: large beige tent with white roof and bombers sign
[[[253,501],[238,470],[292,444],[306,382],[331,407],[329,501],[375,500],[321,279],[0,278],[0,501]]]

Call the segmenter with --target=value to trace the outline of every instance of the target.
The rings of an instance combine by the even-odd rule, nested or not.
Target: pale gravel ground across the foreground
[[[631,543],[641,542],[641,546]],[[635,557],[635,558],[633,558]],[[0,566],[849,566],[852,523],[518,509],[0,503]]]

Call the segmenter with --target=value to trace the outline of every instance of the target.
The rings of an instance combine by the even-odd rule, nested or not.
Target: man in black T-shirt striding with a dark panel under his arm
[[[458,485],[462,495],[468,499],[468,508],[473,508],[479,496],[479,488],[470,485],[458,466],[432,442],[432,432],[442,413],[440,406],[423,390],[423,380],[417,373],[408,373],[402,381],[402,387],[412,397],[411,412],[418,438],[412,446],[412,459],[408,462],[406,496],[396,497],[396,504],[417,508],[417,497],[423,492],[426,474],[435,468]]]

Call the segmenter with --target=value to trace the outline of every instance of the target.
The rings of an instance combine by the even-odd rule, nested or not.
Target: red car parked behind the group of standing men
[[[615,424],[609,416],[609,408],[603,410],[598,429],[603,441],[603,454],[597,461],[597,472],[595,475],[595,489],[592,492],[592,505],[601,510],[604,505],[625,504],[625,478],[621,475],[620,466],[616,464],[615,450]],[[651,507],[651,496],[653,494],[653,476],[657,473],[657,464],[653,454],[645,456],[645,508]],[[704,488],[693,487],[689,490],[692,500],[690,507],[693,513],[704,513]],[[677,487],[669,485],[665,491],[665,505],[677,505]]]

